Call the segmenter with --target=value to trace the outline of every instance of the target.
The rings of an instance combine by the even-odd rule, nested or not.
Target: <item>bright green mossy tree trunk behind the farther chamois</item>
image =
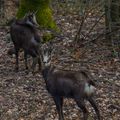
[[[29,11],[38,11],[37,21],[41,27],[57,30],[50,8],[51,0],[21,0],[17,18],[22,18]]]

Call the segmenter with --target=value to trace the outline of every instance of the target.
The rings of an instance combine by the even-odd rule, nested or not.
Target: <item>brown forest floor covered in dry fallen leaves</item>
[[[54,40],[54,61],[57,68],[90,70],[98,84],[95,99],[102,120],[120,120],[120,61],[112,57],[112,52],[102,40],[72,52],[71,41],[75,37],[76,26],[68,17],[58,16],[62,37]],[[14,71],[15,57],[7,51],[9,28],[0,27],[0,120],[58,120],[55,104],[45,88],[41,73],[26,74],[23,54],[20,54],[20,70]],[[85,54],[81,53],[87,50]],[[29,60],[31,61],[31,59]],[[89,120],[96,120],[91,106]],[[65,99],[63,107],[65,120],[82,120],[82,112],[72,99]],[[95,117],[94,117],[95,116]]]

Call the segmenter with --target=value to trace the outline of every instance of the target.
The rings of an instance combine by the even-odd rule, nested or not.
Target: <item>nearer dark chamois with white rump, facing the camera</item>
[[[88,119],[88,110],[85,107],[84,100],[88,100],[94,108],[98,120],[100,120],[99,109],[93,99],[95,83],[92,81],[89,72],[86,70],[57,70],[50,63],[51,49],[43,50],[42,55],[42,75],[46,83],[46,88],[56,104],[59,120],[64,120],[62,110],[64,98],[73,98],[75,100],[78,107],[83,111],[84,120]]]

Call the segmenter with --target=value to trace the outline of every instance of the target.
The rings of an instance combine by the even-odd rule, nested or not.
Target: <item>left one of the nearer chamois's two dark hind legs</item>
[[[80,100],[80,99],[76,98],[75,101],[76,101],[78,107],[81,108],[81,110],[83,111],[84,120],[87,120],[88,119],[88,110],[85,107],[84,100]]]

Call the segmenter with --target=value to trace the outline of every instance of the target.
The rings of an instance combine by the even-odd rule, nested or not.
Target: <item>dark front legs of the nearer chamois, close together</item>
[[[64,120],[63,111],[62,111],[63,97],[53,96],[53,99],[55,101],[56,108],[57,108],[57,111],[58,111],[58,114],[59,114],[59,120]]]

